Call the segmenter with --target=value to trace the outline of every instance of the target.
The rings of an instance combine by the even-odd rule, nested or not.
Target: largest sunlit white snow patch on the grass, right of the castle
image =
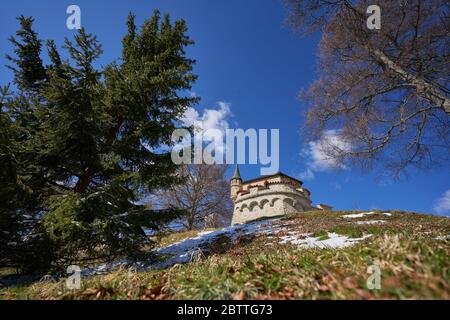
[[[349,238],[347,236],[341,236],[334,232],[328,232],[328,239],[319,240],[320,237],[306,237],[306,238],[296,238],[293,236],[282,237],[281,243],[292,243],[298,245],[302,248],[321,248],[321,249],[338,249],[346,248],[354,245],[355,243],[365,240],[372,235],[365,235],[361,238]]]

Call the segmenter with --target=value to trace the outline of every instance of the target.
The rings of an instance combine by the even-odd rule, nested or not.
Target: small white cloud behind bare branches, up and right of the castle
[[[311,141],[301,152],[307,159],[306,170],[300,174],[304,180],[315,178],[315,172],[332,169],[347,169],[347,167],[333,157],[335,152],[351,150],[351,144],[345,141],[337,130],[326,130],[319,140]]]

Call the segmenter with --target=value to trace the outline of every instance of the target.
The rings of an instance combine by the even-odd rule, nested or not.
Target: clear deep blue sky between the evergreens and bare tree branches
[[[188,55],[197,60],[199,79],[192,91],[202,98],[196,107],[198,117],[205,119],[216,109],[222,116],[219,124],[230,128],[280,129],[280,170],[304,176],[312,159],[301,156],[302,150],[308,150],[299,132],[305,105],[296,97],[314,80],[320,35],[300,38],[293,34],[283,24],[286,12],[279,0],[3,1],[1,84],[12,78],[4,67],[4,55],[11,53],[7,38],[17,29],[15,17],[33,16],[41,38],[61,45],[64,37],[74,33],[66,28],[66,8],[71,4],[81,8],[83,27],[96,34],[103,45],[100,64],[119,57],[128,12],[136,14],[139,24],[156,8],[185,19],[195,41]],[[258,176],[259,169],[258,165],[245,165],[241,173],[249,179]],[[380,179],[382,172],[321,169],[304,184],[312,191],[314,203],[327,203],[336,209],[401,209],[450,215],[448,164],[433,171],[411,171],[409,178],[401,181]]]

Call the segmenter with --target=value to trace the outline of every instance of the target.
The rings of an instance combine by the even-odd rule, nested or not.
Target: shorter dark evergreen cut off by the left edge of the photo
[[[36,175],[24,171],[26,153],[20,146],[20,131],[13,121],[7,88],[0,90],[0,266],[26,273],[49,267],[50,243],[39,231],[40,204],[35,192]]]

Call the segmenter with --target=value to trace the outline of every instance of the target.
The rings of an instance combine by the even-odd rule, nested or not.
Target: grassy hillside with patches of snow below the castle
[[[2,289],[0,298],[450,299],[447,217],[306,212],[172,234],[155,253],[157,261],[131,269],[123,260],[83,270],[80,290],[45,280]],[[370,290],[373,265],[381,283]]]

